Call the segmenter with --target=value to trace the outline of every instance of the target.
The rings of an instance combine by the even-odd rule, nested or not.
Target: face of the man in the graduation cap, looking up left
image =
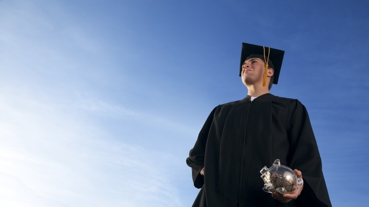
[[[241,78],[247,86],[262,82],[265,63],[260,58],[250,58],[242,65]]]

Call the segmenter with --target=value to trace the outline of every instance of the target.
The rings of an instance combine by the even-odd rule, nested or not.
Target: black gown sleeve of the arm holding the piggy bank
[[[304,179],[303,191],[295,203],[297,206],[332,206],[307,110],[298,100],[289,108],[290,165],[291,168],[300,170]]]

